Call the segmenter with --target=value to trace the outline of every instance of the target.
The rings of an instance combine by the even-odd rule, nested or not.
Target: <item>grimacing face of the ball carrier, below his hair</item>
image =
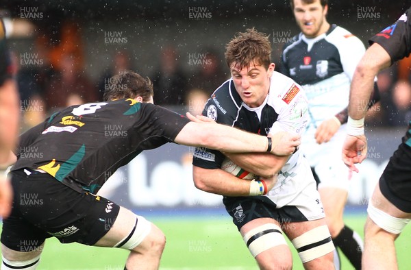
[[[275,65],[271,63],[266,69],[260,64],[254,64],[254,62],[241,70],[236,69],[236,63],[232,63],[230,66],[237,93],[250,108],[261,106],[269,94],[270,78],[274,67]]]

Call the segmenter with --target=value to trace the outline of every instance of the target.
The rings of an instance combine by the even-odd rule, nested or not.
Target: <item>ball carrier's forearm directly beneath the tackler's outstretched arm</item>
[[[224,154],[242,169],[260,175],[262,179],[274,177],[288,160],[288,156],[275,156],[272,154]]]

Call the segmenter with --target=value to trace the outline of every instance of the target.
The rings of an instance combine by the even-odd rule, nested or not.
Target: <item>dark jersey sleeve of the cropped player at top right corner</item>
[[[383,47],[391,58],[391,64],[410,55],[411,52],[411,8],[398,21],[373,36],[369,43],[374,42]]]

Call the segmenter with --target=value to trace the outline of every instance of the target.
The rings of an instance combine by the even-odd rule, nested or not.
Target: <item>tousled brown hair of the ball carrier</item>
[[[236,68],[242,69],[255,61],[255,64],[261,64],[268,69],[271,63],[269,37],[254,28],[237,33],[225,48],[225,61],[228,67],[235,62]]]

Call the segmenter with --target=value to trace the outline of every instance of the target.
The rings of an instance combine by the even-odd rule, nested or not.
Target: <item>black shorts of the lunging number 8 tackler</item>
[[[16,251],[38,249],[46,238],[94,245],[114,224],[120,207],[90,193],[78,193],[48,173],[13,171],[13,208],[3,221],[1,243]]]

